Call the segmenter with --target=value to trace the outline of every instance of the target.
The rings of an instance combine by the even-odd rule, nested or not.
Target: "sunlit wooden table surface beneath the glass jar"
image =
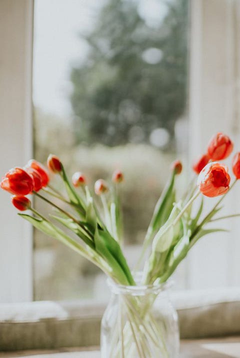
[[[83,350],[82,350],[83,349]],[[0,357],[100,358],[97,347],[0,352]],[[181,340],[180,358],[240,358],[240,337]]]

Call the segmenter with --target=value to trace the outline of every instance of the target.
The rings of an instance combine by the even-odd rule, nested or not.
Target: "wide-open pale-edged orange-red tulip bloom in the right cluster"
[[[202,194],[213,197],[225,194],[229,189],[230,176],[227,167],[217,162],[208,163],[200,172],[197,185]]]

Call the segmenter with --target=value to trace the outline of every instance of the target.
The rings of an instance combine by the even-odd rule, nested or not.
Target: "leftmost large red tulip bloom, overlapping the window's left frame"
[[[22,168],[12,168],[3,176],[0,186],[14,195],[27,195],[33,189],[33,178]]]

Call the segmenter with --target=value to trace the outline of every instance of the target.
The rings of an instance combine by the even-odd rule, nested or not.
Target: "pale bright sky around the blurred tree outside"
[[[35,0],[33,49],[33,102],[43,111],[64,119],[70,113],[70,68],[85,58],[88,32],[107,0]],[[127,1],[127,0],[125,0]],[[149,26],[166,13],[162,0],[137,0],[138,12]]]

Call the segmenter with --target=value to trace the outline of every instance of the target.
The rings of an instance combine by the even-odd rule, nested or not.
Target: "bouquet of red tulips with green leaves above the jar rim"
[[[232,149],[233,143],[227,135],[214,135],[210,139],[206,153],[193,165],[198,177],[191,180],[185,194],[179,200],[176,200],[175,195],[175,179],[181,173],[182,164],[178,160],[172,164],[169,181],[156,202],[139,255],[137,267],[144,259],[142,284],[164,283],[200,237],[222,230],[209,228],[208,223],[236,215],[218,215],[222,199],[240,178],[240,152],[233,157],[232,170],[235,181],[231,186],[228,168],[220,162],[231,154]],[[72,180],[69,180],[57,156],[48,156],[47,167],[63,180],[64,193],[49,183],[47,169],[33,159],[24,167],[10,169],[2,178],[0,186],[13,194],[12,204],[20,211],[31,212],[19,215],[46,235],[61,241],[90,260],[114,282],[135,285],[134,275],[122,251],[119,199],[122,172],[116,170],[113,173],[111,186],[103,179],[97,180],[93,195],[81,172],[75,172]],[[28,194],[36,195],[54,209],[49,217],[34,209],[26,196]],[[192,204],[198,195],[201,195],[201,199],[196,201],[197,207],[193,215]],[[203,215],[204,197],[219,195],[220,198],[213,208]],[[64,209],[60,205],[61,202]],[[61,228],[62,226],[68,229],[68,233]],[[69,232],[72,232],[72,235]],[[147,252],[149,253],[145,258]]]

